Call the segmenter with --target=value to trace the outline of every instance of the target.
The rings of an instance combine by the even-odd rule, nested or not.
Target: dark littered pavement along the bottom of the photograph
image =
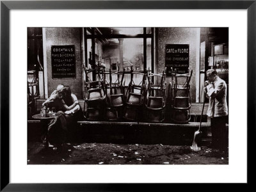
[[[112,143],[65,143],[45,148],[28,143],[28,164],[228,164],[228,155],[202,146],[140,145]]]

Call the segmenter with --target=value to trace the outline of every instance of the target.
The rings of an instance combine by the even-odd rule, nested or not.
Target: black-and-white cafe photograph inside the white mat
[[[228,35],[28,27],[27,164],[228,164]]]

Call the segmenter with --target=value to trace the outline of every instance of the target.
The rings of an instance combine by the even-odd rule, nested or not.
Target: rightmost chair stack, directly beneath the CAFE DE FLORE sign
[[[172,73],[172,121],[177,124],[186,124],[190,120],[191,97],[190,86],[193,70],[189,74]]]

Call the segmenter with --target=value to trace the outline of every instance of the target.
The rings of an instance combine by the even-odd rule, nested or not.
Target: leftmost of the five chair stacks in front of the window
[[[84,67],[84,72],[86,76],[84,82],[84,115],[87,120],[102,120],[106,104],[104,68],[100,65],[94,69]],[[94,81],[92,81],[92,76],[95,76]]]

